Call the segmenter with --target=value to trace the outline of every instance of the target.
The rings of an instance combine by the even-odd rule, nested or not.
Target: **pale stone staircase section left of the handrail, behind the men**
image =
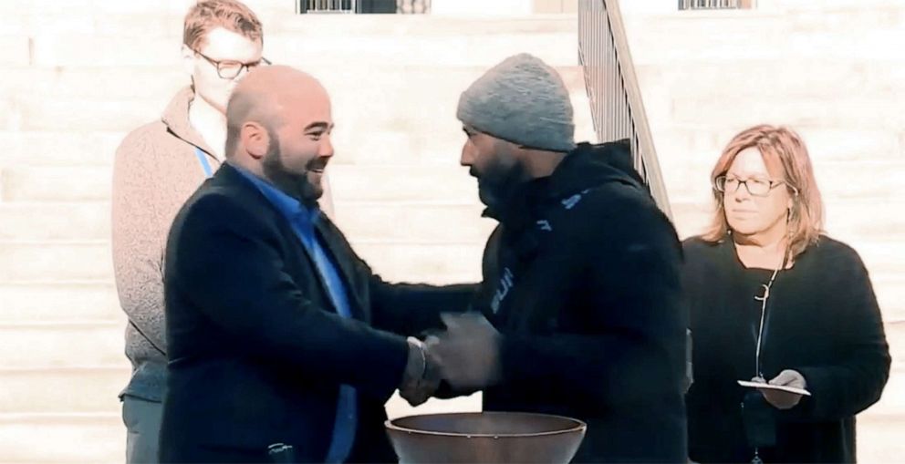
[[[191,0],[0,3],[0,463],[121,462],[123,356],[109,251],[114,150],[187,82]],[[385,278],[473,282],[492,222],[458,166],[459,93],[509,55],[557,66],[593,134],[574,15],[293,15],[248,0],[265,57],[334,100],[336,215]],[[161,186],[166,188],[166,186]],[[417,411],[478,410],[480,397]],[[412,411],[398,397],[391,416]]]

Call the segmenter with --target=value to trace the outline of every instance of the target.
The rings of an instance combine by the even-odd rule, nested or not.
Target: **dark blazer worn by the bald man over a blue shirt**
[[[326,217],[317,234],[354,319],[336,314],[289,223],[233,167],[183,206],[164,273],[163,462],[266,461],[276,442],[293,445],[299,460],[323,460],[340,384],[359,393],[350,460],[395,460],[383,405],[402,378],[402,335],[439,326],[438,312],[464,309],[473,287],[385,284]]]

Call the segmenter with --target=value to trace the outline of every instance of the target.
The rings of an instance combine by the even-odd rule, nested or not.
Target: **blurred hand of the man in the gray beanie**
[[[499,332],[480,313],[441,314],[446,332],[429,338],[428,364],[456,395],[466,395],[500,381]]]

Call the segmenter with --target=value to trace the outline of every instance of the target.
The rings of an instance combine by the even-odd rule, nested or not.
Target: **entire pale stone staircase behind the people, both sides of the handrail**
[[[121,462],[116,395],[129,376],[112,282],[109,187],[125,133],[184,85],[191,0],[0,2],[0,463]],[[476,280],[491,222],[458,166],[459,93],[529,51],[572,89],[593,133],[575,16],[480,19],[292,14],[248,0],[265,56],[320,77],[334,98],[337,219],[386,278]],[[674,2],[669,2],[674,5]],[[869,265],[894,353],[880,403],[859,418],[862,461],[900,459],[905,428],[905,5],[759,0],[746,12],[629,15],[629,40],[682,235],[700,230],[707,172],[762,121],[806,138],[827,229]],[[628,10],[627,10],[628,11]],[[164,187],[165,188],[165,187]],[[421,411],[480,407],[478,397]],[[411,412],[398,398],[391,416]]]

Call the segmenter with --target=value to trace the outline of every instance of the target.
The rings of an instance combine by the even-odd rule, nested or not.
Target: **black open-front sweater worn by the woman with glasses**
[[[748,269],[731,240],[684,243],[694,384],[688,393],[689,453],[700,462],[749,462],[736,380],[755,375],[754,346],[772,270]],[[780,271],[770,291],[761,362],[766,379],[805,376],[812,397],[774,410],[776,446],[765,462],[853,462],[855,415],[875,403],[889,377],[889,346],[858,253],[821,237]]]

